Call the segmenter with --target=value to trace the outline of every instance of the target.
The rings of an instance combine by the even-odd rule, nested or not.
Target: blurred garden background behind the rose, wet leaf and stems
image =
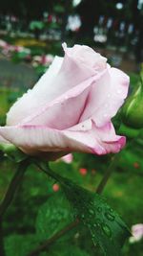
[[[68,46],[87,44],[107,57],[112,66],[128,73],[131,78],[130,94],[143,86],[140,79],[143,74],[143,0],[1,1],[1,126],[5,125],[10,105],[34,85],[55,55],[63,56],[61,43],[64,41]],[[143,223],[143,94],[136,98],[136,103],[136,109],[139,110],[133,113],[132,121],[130,119],[127,122],[126,109],[123,113],[119,111],[112,120],[117,131],[122,124],[120,130],[127,135],[130,146],[122,151],[104,192],[108,202],[130,228]],[[0,159],[2,199],[15,167],[2,151]],[[68,162],[61,159],[52,163],[52,168],[93,191],[112,155],[96,157],[74,153],[70,159]],[[7,256],[26,256],[37,244],[51,238],[69,222],[68,205],[65,199],[61,199],[61,194],[59,184],[54,184],[53,180],[46,180],[34,168],[27,172],[5,217],[4,243]],[[47,205],[51,210],[47,210]],[[41,223],[45,218],[48,221],[43,229]],[[143,255],[143,226],[138,226],[137,230],[137,234],[141,235],[127,241],[122,255]],[[102,254],[98,247],[93,247],[86,230],[80,226],[59,239],[56,246],[51,245],[49,252],[39,255]]]

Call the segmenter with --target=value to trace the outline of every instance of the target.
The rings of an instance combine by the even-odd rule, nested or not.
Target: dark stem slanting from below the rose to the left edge
[[[5,195],[5,198],[3,199],[0,205],[0,220],[3,219],[7,209],[9,208],[10,202],[14,198],[15,192],[20,185],[20,182],[26,172],[28,165],[29,165],[28,160],[22,161],[18,165],[18,168],[10,181],[10,185]]]

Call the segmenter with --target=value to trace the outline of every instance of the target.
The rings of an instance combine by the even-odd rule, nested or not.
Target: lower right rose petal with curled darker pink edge
[[[83,122],[80,124],[80,128],[79,125],[77,125],[72,129],[65,130],[64,133],[72,140],[75,140],[75,142],[81,142],[83,145],[86,145],[92,153],[95,154],[115,153],[124,148],[126,138],[115,134],[111,122],[102,128],[98,128],[95,123],[91,121],[91,128],[89,126],[89,130],[84,130],[83,127],[85,124],[86,123]]]

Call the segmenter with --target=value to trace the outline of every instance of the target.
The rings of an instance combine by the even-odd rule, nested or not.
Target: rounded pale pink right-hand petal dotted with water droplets
[[[104,76],[92,85],[89,101],[80,122],[92,117],[96,126],[110,122],[124,103],[129,88],[129,77],[122,71],[108,67]]]

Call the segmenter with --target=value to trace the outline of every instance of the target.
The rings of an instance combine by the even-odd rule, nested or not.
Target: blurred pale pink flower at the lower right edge
[[[138,223],[132,226],[133,237],[130,237],[130,243],[135,243],[143,238],[143,223]]]

